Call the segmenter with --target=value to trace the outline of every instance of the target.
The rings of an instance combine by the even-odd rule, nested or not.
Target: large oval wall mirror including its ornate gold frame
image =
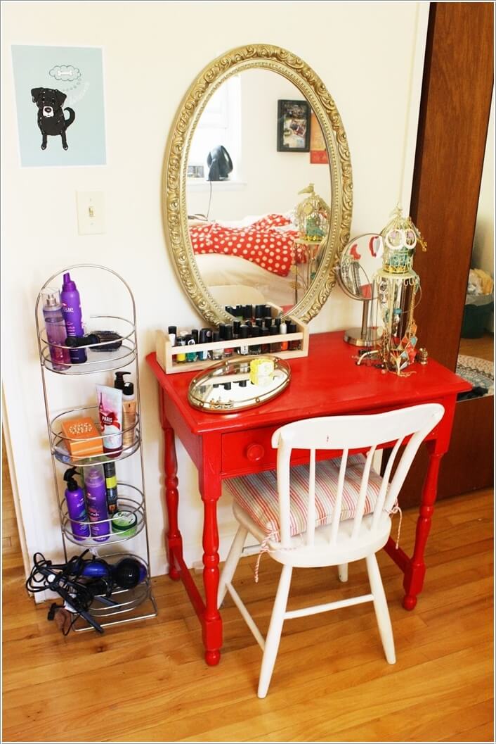
[[[319,312],[349,237],[350,153],[332,97],[298,57],[253,45],[208,65],[177,113],[163,191],[174,266],[207,321],[237,304],[304,322]],[[322,208],[303,224],[314,197]]]

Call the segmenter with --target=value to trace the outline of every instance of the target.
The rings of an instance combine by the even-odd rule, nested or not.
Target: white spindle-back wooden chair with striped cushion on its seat
[[[234,497],[239,527],[221,573],[218,604],[221,606],[229,591],[264,651],[258,697],[267,695],[282,626],[290,618],[371,601],[385,657],[389,664],[395,663],[391,620],[375,554],[388,541],[390,515],[417,449],[443,414],[442,405],[427,403],[368,416],[296,421],[273,434],[272,445],[278,448],[277,472],[225,481]],[[391,469],[405,437],[410,439],[390,484]],[[372,468],[372,459],[377,447],[385,443],[391,443],[393,449],[381,478]],[[291,467],[292,449],[308,449],[309,464]],[[337,458],[316,463],[316,450],[325,449],[341,452],[341,462]],[[350,455],[357,449],[366,450],[367,455]],[[232,586],[247,533],[261,543],[262,552],[282,564],[265,640]],[[340,579],[346,580],[347,564],[364,558],[370,594],[287,612],[293,568],[337,565]]]

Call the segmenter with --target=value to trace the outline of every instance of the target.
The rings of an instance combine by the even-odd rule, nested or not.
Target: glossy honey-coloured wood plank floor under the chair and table
[[[407,552],[415,522],[407,511]],[[19,554],[4,554],[3,741],[494,741],[492,527],[492,490],[437,504],[413,612],[379,554],[397,664],[369,605],[289,620],[264,700],[261,652],[231,600],[221,664],[209,668],[186,593],[168,577],[154,579],[157,618],[64,638],[27,598]],[[235,586],[266,632],[279,568],[264,556],[256,585],[254,565],[242,560]],[[366,584],[361,563],[347,585],[324,568],[294,576],[293,608]]]

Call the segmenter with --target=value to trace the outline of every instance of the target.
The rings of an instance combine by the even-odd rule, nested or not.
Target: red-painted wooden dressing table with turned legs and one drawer
[[[411,557],[396,548],[390,538],[385,551],[404,574],[405,609],[414,609],[425,577],[424,550],[431,527],[437,494],[440,460],[447,452],[457,394],[471,385],[448,369],[429,360],[414,364],[408,377],[356,365],[356,348],[342,340],[342,331],[310,336],[309,356],[287,360],[291,382],[286,390],[260,408],[237,414],[203,413],[188,403],[188,386],[195,372],[167,375],[154,353],[146,357],[157,378],[160,394],[160,423],[164,434],[164,471],[168,532],[166,548],[169,575],[182,580],[200,620],[206,663],[221,658],[222,619],[217,607],[218,525],[217,501],[223,478],[275,468],[276,450],[270,438],[284,423],[315,416],[379,413],[418,403],[441,403],[446,413],[428,435],[428,470],[422,487],[414,552]],[[185,365],[186,368],[186,365]],[[177,524],[179,493],[174,436],[180,438],[198,468],[203,501],[203,600],[183,560],[182,539]],[[330,453],[327,453],[327,457]],[[295,464],[304,462],[293,458]]]

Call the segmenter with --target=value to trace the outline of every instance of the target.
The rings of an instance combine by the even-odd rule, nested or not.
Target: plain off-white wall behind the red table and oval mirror
[[[322,77],[345,124],[353,164],[352,233],[378,231],[399,195],[408,208],[428,3],[40,1],[2,9],[4,397],[27,548],[51,557],[60,541],[33,306],[52,273],[71,263],[103,263],[128,280],[137,302],[157,574],[166,567],[162,445],[157,389],[144,357],[154,350],[155,328],[199,322],[174,275],[160,218],[163,153],[180,100],[198,71],[228,48],[270,42],[298,54]],[[105,167],[19,167],[13,43],[104,48]],[[78,235],[76,190],[105,193],[105,234]],[[310,330],[356,325],[360,315],[359,304],[336,289]],[[192,562],[202,553],[198,480],[180,444],[177,449],[180,518]],[[233,529],[226,499],[219,518],[223,557]]]

